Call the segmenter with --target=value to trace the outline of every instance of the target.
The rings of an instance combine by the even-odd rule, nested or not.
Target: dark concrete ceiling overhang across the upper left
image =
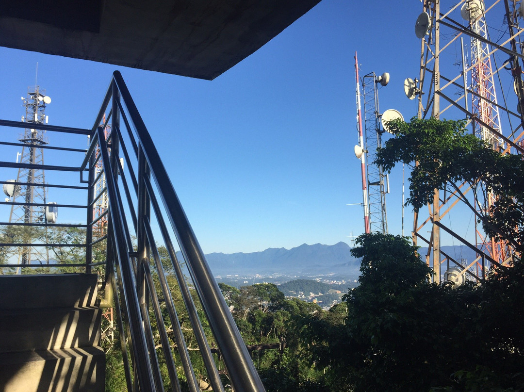
[[[212,80],[320,0],[0,0],[0,46]]]

